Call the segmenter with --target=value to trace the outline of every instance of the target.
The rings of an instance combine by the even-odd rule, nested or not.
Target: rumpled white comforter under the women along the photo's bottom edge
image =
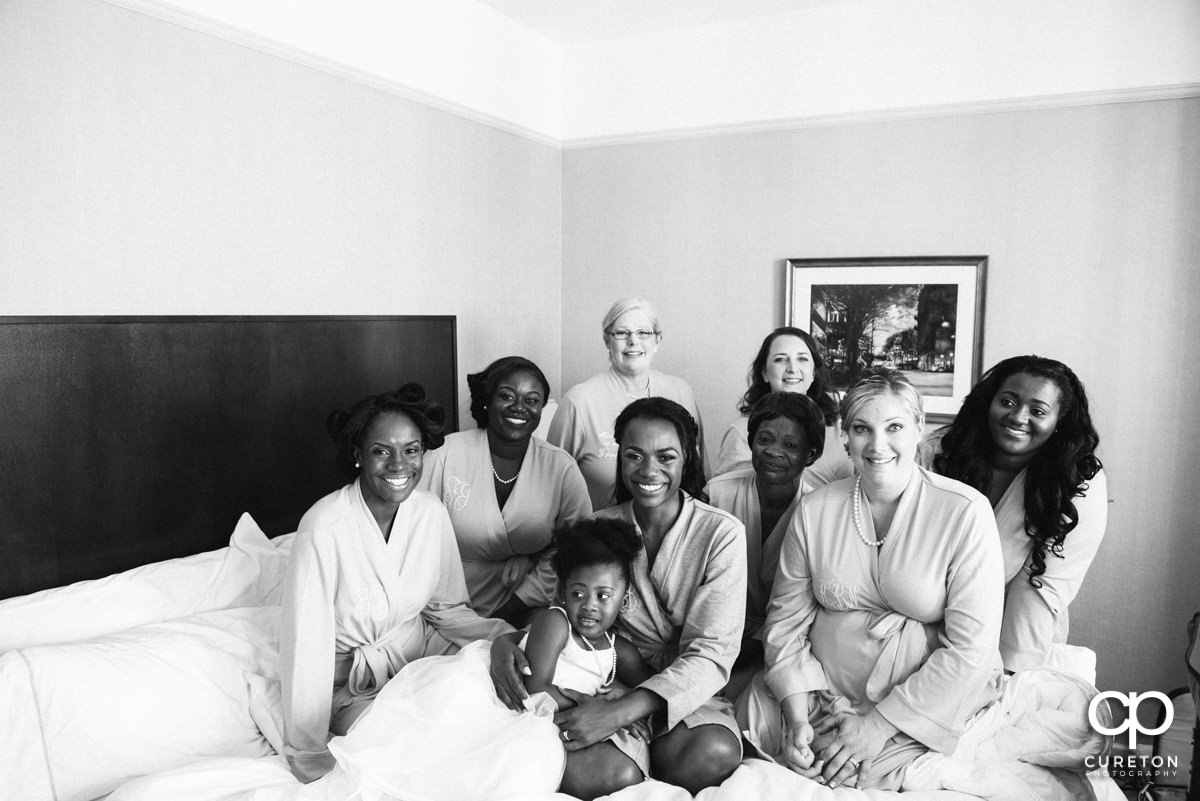
[[[948,758],[938,758],[936,769],[930,772],[941,787],[953,789],[908,791],[904,794],[905,801],[1120,800],[1120,791],[1108,777],[1085,776],[1072,770],[1100,745],[1098,735],[1080,723],[1086,719],[1086,704],[1094,692],[1086,682],[1054,670],[1018,674],[1008,682],[1001,700],[973,722],[958,751]],[[354,739],[358,730],[353,729],[348,737]],[[385,757],[388,743],[379,741],[388,736],[385,729],[364,727],[364,730],[383,731],[371,734],[376,742],[370,745]],[[362,770],[361,764],[355,767]],[[366,784],[341,766],[305,785],[292,777],[282,758],[210,759],[134,779],[113,793],[108,801],[450,801],[443,796],[384,795]],[[935,785],[938,782],[929,784]],[[884,790],[829,789],[779,765],[746,759],[724,784],[703,790],[696,797],[700,801],[851,801],[894,795]],[[505,797],[570,801],[570,796],[560,793]],[[606,797],[610,801],[688,801],[691,796],[680,788],[647,781]]]

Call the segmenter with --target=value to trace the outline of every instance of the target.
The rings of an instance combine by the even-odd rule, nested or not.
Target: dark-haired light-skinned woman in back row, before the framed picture
[[[750,466],[746,439],[750,409],[768,392],[798,392],[811,398],[824,416],[824,450],[805,471],[805,482],[821,487],[853,472],[838,436],[838,403],[829,393],[824,359],[808,331],[785,325],[767,335],[746,372],[746,391],[738,402],[742,412],[721,438],[715,475]]]

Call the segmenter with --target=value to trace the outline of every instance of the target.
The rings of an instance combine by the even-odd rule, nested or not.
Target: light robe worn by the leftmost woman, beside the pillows
[[[359,482],[317,501],[292,547],[280,661],[283,739],[304,781],[332,767],[340,713],[361,706],[413,660],[511,632],[468,606],[445,507],[414,490],[384,542]]]

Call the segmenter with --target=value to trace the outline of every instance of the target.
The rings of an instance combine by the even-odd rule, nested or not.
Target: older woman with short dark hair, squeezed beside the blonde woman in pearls
[[[757,670],[779,549],[800,498],[814,489],[806,468],[824,448],[826,426],[817,404],[799,392],[768,392],[746,420],[751,466],[716,476],[707,492],[746,528],[746,622],[736,667]]]

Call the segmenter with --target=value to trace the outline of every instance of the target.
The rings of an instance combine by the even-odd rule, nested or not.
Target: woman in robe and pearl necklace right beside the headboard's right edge
[[[589,516],[592,501],[575,459],[534,436],[550,397],[536,365],[506,356],[467,386],[479,428],[446,436],[420,487],[450,512],[472,607],[522,626],[554,592],[553,529]]]

